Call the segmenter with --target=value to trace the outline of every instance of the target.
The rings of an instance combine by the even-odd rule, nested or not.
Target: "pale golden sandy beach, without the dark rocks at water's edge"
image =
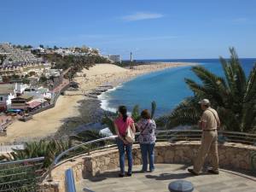
[[[123,68],[112,64],[96,64],[96,66],[90,67],[89,70],[84,69],[77,74],[74,80],[79,83],[79,90],[67,91],[66,96],[59,97],[55,108],[33,115],[32,120],[27,122],[17,120],[9,125],[7,137],[0,137],[0,143],[20,143],[20,141],[54,135],[65,123],[65,119],[79,116],[79,101],[87,99],[84,94],[100,85],[112,84],[115,86],[145,73],[191,65],[194,64],[159,63]]]

